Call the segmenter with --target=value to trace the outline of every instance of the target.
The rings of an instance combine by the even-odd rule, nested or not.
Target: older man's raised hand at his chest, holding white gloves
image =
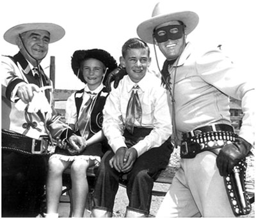
[[[22,102],[28,104],[34,96],[33,91],[39,92],[39,87],[35,84],[22,84],[17,90],[17,96]]]

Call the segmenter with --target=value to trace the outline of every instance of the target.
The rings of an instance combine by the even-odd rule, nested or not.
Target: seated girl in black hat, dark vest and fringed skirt
[[[46,217],[58,217],[58,204],[62,190],[62,174],[70,166],[72,180],[72,217],[83,217],[88,182],[86,170],[99,165],[107,143],[102,133],[102,109],[108,93],[103,85],[106,74],[114,70],[115,59],[100,49],[77,50],[72,57],[72,70],[86,85],[67,100],[66,123],[84,137],[86,147],[81,153],[70,149],[56,149],[49,158],[47,176]],[[105,145],[105,146],[104,146]]]

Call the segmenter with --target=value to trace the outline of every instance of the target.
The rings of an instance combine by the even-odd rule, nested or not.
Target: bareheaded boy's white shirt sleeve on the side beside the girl
[[[118,86],[120,87],[120,85]],[[120,90],[112,87],[103,109],[102,130],[114,153],[120,147],[127,147],[123,137],[124,128],[120,110]]]

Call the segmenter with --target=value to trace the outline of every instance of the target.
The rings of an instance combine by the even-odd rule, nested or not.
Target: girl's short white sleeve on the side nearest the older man
[[[75,93],[67,99],[65,121],[67,124],[76,124],[77,122]]]

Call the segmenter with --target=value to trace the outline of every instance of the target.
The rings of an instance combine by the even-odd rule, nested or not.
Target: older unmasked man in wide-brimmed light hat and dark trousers
[[[20,24],[4,34],[19,52],[2,56],[1,63],[2,216],[40,213],[52,139],[67,139],[76,151],[84,147],[81,137],[54,116],[52,82],[40,66],[49,43],[64,34],[62,27],[49,23]]]

